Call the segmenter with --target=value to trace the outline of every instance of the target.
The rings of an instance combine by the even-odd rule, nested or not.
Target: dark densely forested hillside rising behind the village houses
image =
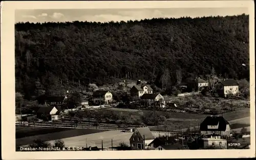
[[[248,79],[248,66],[248,15],[15,24],[16,92],[26,98],[63,89],[68,81],[174,85],[205,77],[212,68],[222,77]]]

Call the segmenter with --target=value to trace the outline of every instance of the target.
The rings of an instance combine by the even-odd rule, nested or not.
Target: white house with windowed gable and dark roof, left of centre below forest
[[[110,104],[113,101],[113,95],[109,90],[96,90],[93,93],[93,103],[95,104]]]

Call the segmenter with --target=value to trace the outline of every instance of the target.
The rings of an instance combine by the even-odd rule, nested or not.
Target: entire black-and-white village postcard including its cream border
[[[16,153],[131,151],[136,158],[133,151],[247,150],[255,156],[254,8],[252,15],[248,5],[225,3],[51,3],[55,9],[36,2],[12,14],[8,68],[15,77],[6,84],[15,102],[2,110],[12,108],[9,119],[15,110]]]

